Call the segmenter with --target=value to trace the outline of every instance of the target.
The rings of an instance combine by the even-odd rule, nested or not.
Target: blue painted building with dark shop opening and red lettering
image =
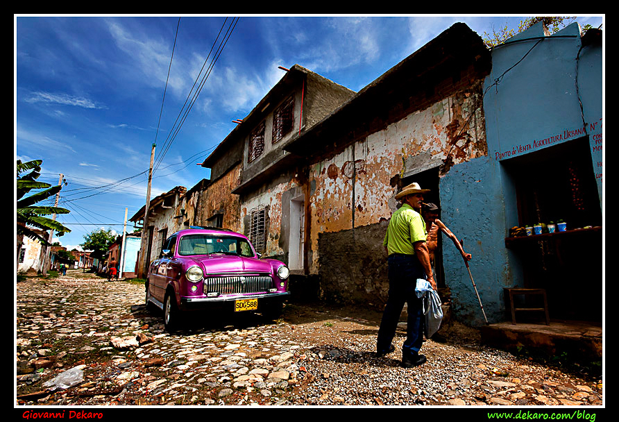
[[[545,31],[536,24],[492,50],[488,154],[439,182],[441,218],[465,237],[491,323],[506,319],[504,287],[546,289],[551,319],[602,321],[602,33],[581,35],[577,23]],[[566,233],[509,237],[559,219]],[[444,261],[458,259],[443,248]],[[445,272],[458,319],[482,325],[464,265]]]

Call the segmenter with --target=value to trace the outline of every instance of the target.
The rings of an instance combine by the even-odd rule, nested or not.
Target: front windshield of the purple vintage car
[[[187,235],[180,238],[179,255],[210,255],[223,253],[253,257],[253,249],[246,239],[226,235]]]

